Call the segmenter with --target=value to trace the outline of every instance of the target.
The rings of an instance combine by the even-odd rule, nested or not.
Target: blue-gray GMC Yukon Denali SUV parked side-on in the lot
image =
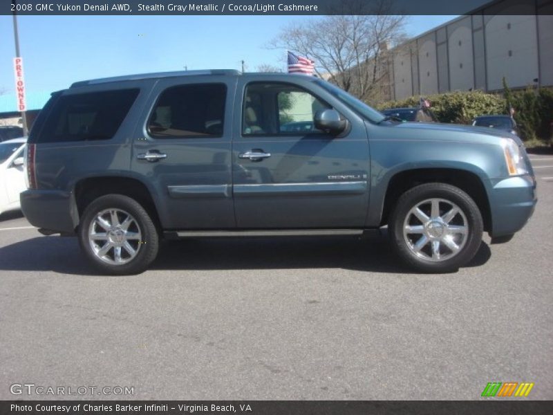
[[[26,149],[21,207],[77,234],[105,273],[140,273],[160,239],[359,235],[388,225],[423,272],[457,270],[482,232],[508,241],[536,181],[506,131],[403,123],[306,75],[194,71],[53,93]]]

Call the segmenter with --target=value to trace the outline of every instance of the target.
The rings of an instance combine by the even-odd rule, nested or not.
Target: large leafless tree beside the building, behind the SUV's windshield
[[[389,48],[405,39],[405,16],[390,2],[344,1],[337,15],[292,23],[269,47],[288,48],[315,60],[315,72],[362,100],[391,84]]]

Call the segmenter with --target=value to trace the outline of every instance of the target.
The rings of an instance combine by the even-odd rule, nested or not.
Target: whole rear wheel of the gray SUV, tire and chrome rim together
[[[86,257],[107,274],[142,273],[158,254],[158,232],[149,214],[121,194],[101,196],[88,205],[78,234]]]

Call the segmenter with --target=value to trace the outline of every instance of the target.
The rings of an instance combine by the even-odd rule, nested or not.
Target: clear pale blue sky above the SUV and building
[[[409,36],[456,16],[410,16]],[[285,66],[285,50],[265,45],[289,16],[20,16],[27,91],[56,91],[95,77],[203,68],[255,71]],[[0,91],[14,90],[11,16],[0,16]]]

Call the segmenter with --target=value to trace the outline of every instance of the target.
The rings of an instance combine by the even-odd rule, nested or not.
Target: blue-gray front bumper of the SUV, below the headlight
[[[533,176],[514,176],[492,183],[489,195],[491,232],[493,238],[504,237],[521,230],[534,213],[536,180]]]

